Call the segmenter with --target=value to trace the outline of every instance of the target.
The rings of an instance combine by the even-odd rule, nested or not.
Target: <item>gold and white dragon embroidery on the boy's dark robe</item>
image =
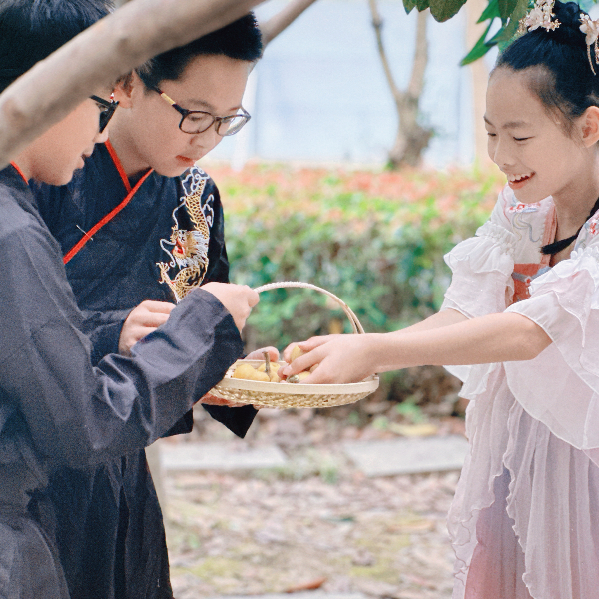
[[[166,283],[180,302],[192,289],[199,287],[208,269],[208,242],[210,227],[214,221],[214,196],[204,198],[208,175],[198,167],[192,167],[183,180],[184,195],[173,210],[173,232],[169,239],[161,239],[160,245],[168,254],[168,262],[157,262],[160,283]],[[181,229],[177,214],[184,210],[193,223],[193,229]],[[171,273],[171,270],[177,272]],[[172,278],[171,278],[172,277]]]

